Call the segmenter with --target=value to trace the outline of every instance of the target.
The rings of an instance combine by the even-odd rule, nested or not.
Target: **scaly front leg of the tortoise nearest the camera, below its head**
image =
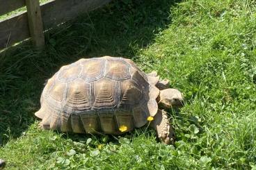
[[[150,126],[157,130],[159,139],[165,144],[174,144],[175,142],[175,132],[170,123],[168,115],[164,110],[158,110],[154,120],[150,122]]]

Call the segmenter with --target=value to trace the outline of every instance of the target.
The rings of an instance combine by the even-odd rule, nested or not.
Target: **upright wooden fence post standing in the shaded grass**
[[[38,0],[26,0],[26,10],[29,19],[29,31],[31,40],[35,47],[45,46],[44,30],[42,28],[42,17]]]

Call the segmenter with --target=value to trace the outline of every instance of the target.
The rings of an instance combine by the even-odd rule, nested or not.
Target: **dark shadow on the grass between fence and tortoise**
[[[0,144],[19,137],[40,108],[43,83],[62,65],[79,58],[125,56],[152,42],[170,24],[177,1],[113,1],[46,33],[43,51],[17,47],[0,56]]]

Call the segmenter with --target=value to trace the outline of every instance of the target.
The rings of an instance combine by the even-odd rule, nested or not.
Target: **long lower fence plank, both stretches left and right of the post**
[[[1,1],[1,0],[0,0]],[[8,0],[11,1],[11,0]],[[45,30],[108,3],[111,0],[56,0],[41,6]],[[22,12],[0,22],[0,49],[30,37],[28,17]]]

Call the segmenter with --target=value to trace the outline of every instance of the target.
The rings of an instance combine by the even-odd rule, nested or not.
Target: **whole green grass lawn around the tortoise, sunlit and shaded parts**
[[[253,0],[114,1],[47,33],[43,51],[3,53],[0,158],[8,169],[256,169],[255,18]],[[170,115],[175,146],[146,128],[122,137],[38,129],[45,79],[104,55],[157,70],[183,92],[185,107]]]

